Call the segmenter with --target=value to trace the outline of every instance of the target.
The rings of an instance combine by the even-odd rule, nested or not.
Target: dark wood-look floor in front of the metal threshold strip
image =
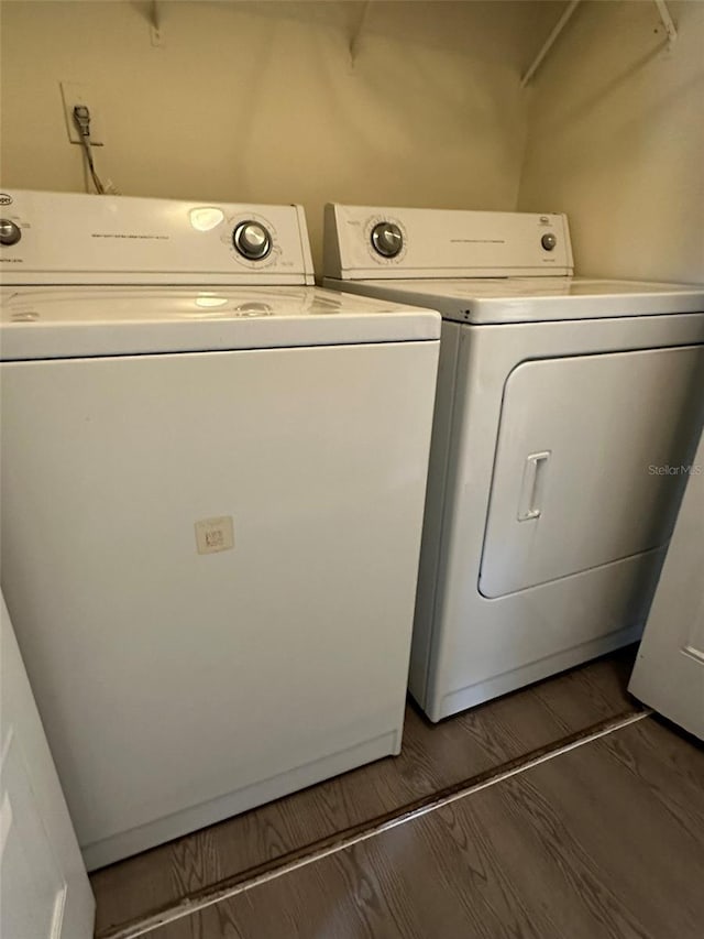
[[[147,939],[701,939],[704,750],[654,718]]]

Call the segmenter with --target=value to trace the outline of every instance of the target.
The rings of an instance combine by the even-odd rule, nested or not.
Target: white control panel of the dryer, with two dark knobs
[[[554,277],[572,272],[564,215],[326,206],[327,277]]]

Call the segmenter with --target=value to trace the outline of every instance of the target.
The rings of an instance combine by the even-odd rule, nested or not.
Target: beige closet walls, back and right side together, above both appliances
[[[585,0],[528,89],[563,2],[0,3],[0,181],[81,190],[59,80],[101,106],[125,195],[570,215],[582,273],[704,281],[704,3]],[[526,146],[527,128],[529,129]],[[525,161],[524,161],[525,157]],[[522,170],[522,176],[521,176]]]

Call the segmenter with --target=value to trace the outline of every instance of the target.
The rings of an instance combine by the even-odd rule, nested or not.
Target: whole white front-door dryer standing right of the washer
[[[704,288],[572,276],[566,218],[328,206],[324,284],[442,313],[410,690],[439,720],[638,638]]]

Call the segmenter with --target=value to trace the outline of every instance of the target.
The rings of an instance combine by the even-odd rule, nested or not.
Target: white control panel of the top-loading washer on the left
[[[301,206],[0,193],[3,284],[312,284]]]

